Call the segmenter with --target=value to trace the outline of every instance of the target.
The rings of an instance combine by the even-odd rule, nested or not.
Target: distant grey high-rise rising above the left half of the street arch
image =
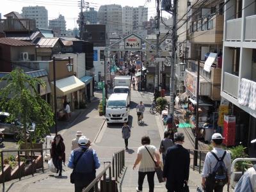
[[[106,25],[106,33],[122,35],[122,6],[119,4],[101,5],[98,11],[100,24]]]

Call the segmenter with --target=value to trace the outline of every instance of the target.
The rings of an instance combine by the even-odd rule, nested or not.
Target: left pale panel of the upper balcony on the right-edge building
[[[242,19],[232,19],[226,22],[226,40],[227,41],[240,41]]]

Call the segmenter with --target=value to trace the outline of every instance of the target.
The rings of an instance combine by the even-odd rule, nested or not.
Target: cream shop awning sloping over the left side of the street
[[[53,81],[51,82],[53,90]],[[60,96],[67,95],[68,93],[76,92],[84,88],[85,84],[75,76],[70,76],[56,81],[56,94]]]

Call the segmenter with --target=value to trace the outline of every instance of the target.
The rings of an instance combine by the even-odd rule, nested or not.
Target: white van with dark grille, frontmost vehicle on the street
[[[110,95],[106,106],[106,121],[110,123],[128,122],[129,95],[127,93],[113,93]]]

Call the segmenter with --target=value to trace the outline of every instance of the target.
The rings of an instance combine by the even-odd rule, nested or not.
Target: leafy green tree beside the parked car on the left
[[[6,81],[6,86],[0,90],[0,108],[10,113],[10,122],[19,120],[23,125],[22,141],[27,143],[24,138],[32,123],[36,125],[33,141],[49,134],[49,128],[54,125],[54,114],[51,106],[37,92],[38,85],[45,86],[45,83],[26,75],[19,68],[4,76],[1,81]]]

